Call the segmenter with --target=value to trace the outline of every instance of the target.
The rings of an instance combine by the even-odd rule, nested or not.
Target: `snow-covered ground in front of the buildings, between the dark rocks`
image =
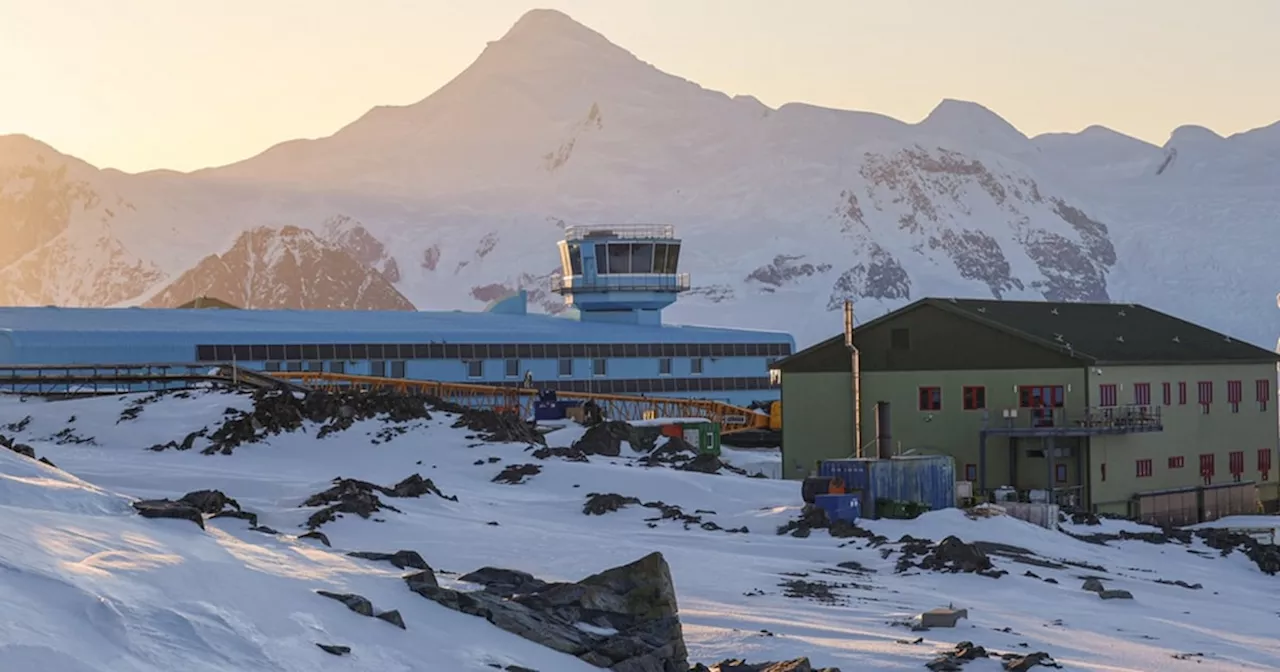
[[[453,429],[445,413],[408,422],[399,434],[385,431],[385,422],[364,421],[323,439],[314,429],[275,435],[232,454],[201,454],[205,439],[193,451],[155,452],[147,448],[215,428],[227,408],[251,402],[221,392],[165,397],[122,420],[131,401],[0,398],[0,434],[60,467],[0,449],[0,669],[596,669],[411,593],[403,572],[387,563],[346,556],[399,549],[421,553],[444,585],[452,576],[445,572],[483,566],[576,581],[660,550],[694,662],[808,655],[815,666],[846,672],[923,669],[937,649],[961,640],[997,652],[1047,652],[1066,669],[1275,669],[1280,660],[1277,608],[1265,599],[1276,594],[1280,579],[1240,553],[1224,558],[1198,540],[1192,547],[1100,545],[955,509],[864,522],[890,541],[956,535],[1062,561],[1052,568],[993,557],[1009,571],[998,579],[897,573],[899,553],[882,557],[895,544],[870,548],[822,530],[803,539],[777,535],[777,526],[799,513],[795,483],[643,467],[626,457],[626,447],[620,458],[536,460],[524,444],[483,443]],[[580,434],[566,428],[549,443],[566,445]],[[726,457],[749,467],[769,453]],[[516,485],[493,483],[503,467],[518,463],[536,463],[541,472]],[[314,512],[300,506],[332,479],[392,485],[412,474],[433,479],[457,502],[396,499],[402,513],[347,516],[321,529],[333,548],[297,539]],[[201,531],[188,521],[142,518],[129,506],[132,498],[201,489],[223,490],[280,534],[252,531],[237,518],[209,520]],[[650,526],[645,518],[653,512],[641,507],[586,516],[589,493],[713,511],[704,518],[749,532],[686,530],[676,521]],[[1073,531],[1121,527],[1106,521]],[[867,571],[837,567],[849,562]],[[1134,599],[1100,600],[1080,589],[1085,576],[1100,576],[1106,588],[1129,590]],[[833,602],[787,596],[787,581],[826,584]],[[357,617],[317,596],[317,589],[358,593],[378,609],[398,609],[407,631]],[[955,630],[913,632],[893,625],[947,604],[969,609]],[[916,637],[923,640],[913,644]],[[347,645],[352,653],[332,657],[316,643]],[[995,671],[1000,663],[975,660],[965,669]]]

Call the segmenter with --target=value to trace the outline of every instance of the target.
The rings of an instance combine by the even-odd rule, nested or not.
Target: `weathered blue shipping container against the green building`
[[[923,502],[933,511],[952,508],[956,502],[956,470],[950,456],[826,460],[818,474],[842,479],[870,518],[876,517],[877,499]]]

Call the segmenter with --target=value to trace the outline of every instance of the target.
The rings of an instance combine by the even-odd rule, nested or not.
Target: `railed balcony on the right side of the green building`
[[[983,434],[1002,436],[1097,436],[1164,431],[1158,406],[1005,408],[983,412]]]

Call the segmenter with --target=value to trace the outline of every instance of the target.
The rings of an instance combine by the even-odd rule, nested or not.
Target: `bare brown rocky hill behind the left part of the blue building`
[[[394,259],[369,232],[349,220],[330,221],[325,232],[328,241],[297,227],[246,232],[143,305],[177,307],[209,296],[242,308],[415,310],[385,275],[396,271]]]

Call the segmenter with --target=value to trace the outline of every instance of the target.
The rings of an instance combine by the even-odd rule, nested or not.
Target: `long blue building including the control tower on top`
[[[780,396],[774,332],[662,324],[690,288],[672,227],[570,227],[553,289],[568,316],[527,312],[524,292],[483,312],[0,308],[0,367],[234,364],[746,406]]]

